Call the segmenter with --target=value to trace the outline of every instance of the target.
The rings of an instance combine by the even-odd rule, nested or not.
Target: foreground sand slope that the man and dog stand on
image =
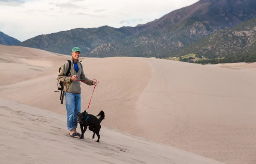
[[[71,138],[64,115],[4,99],[0,104],[1,164],[223,164],[106,127],[100,143],[92,132]]]

